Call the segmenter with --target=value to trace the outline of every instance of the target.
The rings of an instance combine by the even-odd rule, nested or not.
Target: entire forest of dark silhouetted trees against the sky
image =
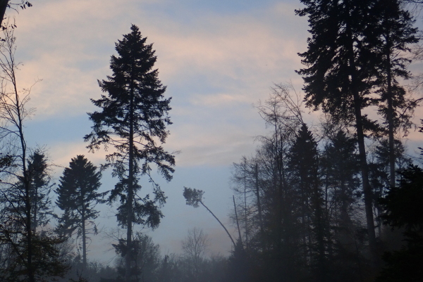
[[[181,187],[186,205],[207,211],[231,250],[210,255],[210,235],[192,226],[182,252],[163,255],[143,230],[166,216],[156,177],[173,179],[179,152],[166,149],[173,100],[155,45],[134,24],[116,39],[109,75],[97,80],[102,94],[87,97],[95,108],[80,136],[87,150],[54,181],[47,147],[28,145],[32,89],[17,75],[18,20],[8,16],[25,17],[32,3],[0,1],[0,281],[423,281],[423,148],[407,148],[411,132],[423,140],[423,72],[410,68],[423,60],[423,1],[298,7],[290,12],[309,27],[295,70],[303,94],[278,83],[256,100],[266,134],[231,167],[231,226],[202,187]],[[104,155],[102,164],[92,155]],[[104,174],[116,180],[110,191],[101,189]],[[106,205],[121,231],[109,264],[89,252]]]

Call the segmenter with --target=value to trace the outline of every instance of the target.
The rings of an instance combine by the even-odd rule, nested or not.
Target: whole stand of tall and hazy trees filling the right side
[[[402,192],[422,171],[401,141],[420,100],[404,86],[415,21],[404,1],[301,2],[311,33],[298,70],[305,98],[276,85],[257,105],[271,133],[234,165],[235,257],[247,281],[421,281],[412,262],[422,257],[422,209],[392,219],[412,210],[394,195],[423,188]],[[304,121],[302,101],[323,111],[321,124]]]

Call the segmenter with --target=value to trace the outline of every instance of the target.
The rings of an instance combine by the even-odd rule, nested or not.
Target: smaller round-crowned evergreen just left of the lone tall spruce
[[[99,212],[95,210],[97,203],[105,193],[99,193],[100,179],[102,174],[97,172],[97,167],[92,165],[83,155],[72,158],[69,167],[63,171],[60,184],[56,188],[58,199],[56,205],[63,210],[59,218],[61,231],[73,235],[77,231],[78,237],[82,237],[82,264],[87,267],[87,222],[96,219]],[[97,228],[94,224],[94,233]]]

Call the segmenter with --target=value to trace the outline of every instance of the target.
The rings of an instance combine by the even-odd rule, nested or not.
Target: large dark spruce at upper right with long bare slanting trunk
[[[370,105],[369,93],[376,80],[377,63],[372,46],[374,37],[369,27],[370,9],[376,0],[302,0],[305,8],[299,15],[309,15],[312,37],[308,50],[300,53],[306,65],[298,73],[305,82],[305,99],[309,107],[321,108],[338,120],[355,127],[360,155],[369,246],[377,263],[374,230],[372,188],[364,144],[364,134],[377,129],[376,124],[362,113]]]

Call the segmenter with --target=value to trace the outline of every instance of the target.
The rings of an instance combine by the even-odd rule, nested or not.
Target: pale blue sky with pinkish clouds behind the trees
[[[46,148],[57,181],[71,158],[85,155],[104,163],[104,150],[89,153],[83,136],[90,133],[87,113],[96,110],[90,98],[102,94],[97,79],[111,75],[115,42],[140,28],[156,50],[159,79],[172,97],[164,148],[176,155],[176,172],[161,184],[168,200],[165,217],[152,236],[163,254],[180,252],[188,229],[209,234],[210,253],[228,255],[231,241],[219,223],[202,207],[185,205],[183,186],[202,189],[204,203],[235,234],[229,219],[233,209],[231,167],[259,145],[266,134],[253,105],[264,101],[276,83],[290,82],[297,91],[302,78],[298,52],[306,51],[307,18],[295,15],[294,0],[34,0],[25,10],[9,10],[16,20],[16,60],[20,89],[32,86],[29,108],[35,114],[25,123],[27,143]],[[306,110],[308,113],[309,110]],[[417,111],[418,116],[419,111]],[[319,115],[307,116],[311,124]],[[421,137],[410,134],[410,143]],[[413,143],[414,142],[414,143]],[[102,190],[115,179],[103,173]],[[148,190],[148,182],[142,183]],[[101,207],[97,223],[102,234],[92,236],[89,257],[108,262],[116,227],[114,207]],[[136,230],[141,231],[140,227]]]

